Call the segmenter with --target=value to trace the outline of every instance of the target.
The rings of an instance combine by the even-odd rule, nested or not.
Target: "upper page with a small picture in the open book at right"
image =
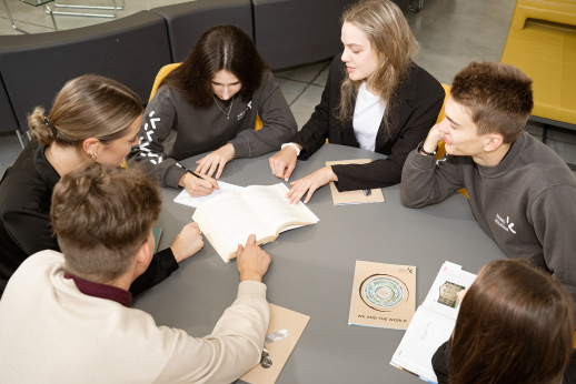
[[[463,271],[460,265],[444,263],[423,306],[456,321],[460,310],[460,303],[456,300],[457,293],[469,289],[475,279],[474,273]]]

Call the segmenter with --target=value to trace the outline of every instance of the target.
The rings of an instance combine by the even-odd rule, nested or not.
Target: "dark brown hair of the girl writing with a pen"
[[[260,87],[267,68],[245,31],[235,26],[217,26],[203,32],[182,64],[160,87],[172,87],[190,104],[207,109],[213,102],[211,81],[217,72],[225,70],[237,77],[241,83],[238,94],[248,101]]]

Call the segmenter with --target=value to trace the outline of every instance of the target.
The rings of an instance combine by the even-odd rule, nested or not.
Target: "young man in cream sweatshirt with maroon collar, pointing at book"
[[[135,169],[92,163],[61,179],[51,218],[63,254],[30,256],[0,301],[1,383],[228,384],[259,362],[271,259],[254,235],[238,246],[238,297],[210,335],[157,326],[130,309],[160,205],[156,185]],[[199,230],[195,242],[203,246]]]

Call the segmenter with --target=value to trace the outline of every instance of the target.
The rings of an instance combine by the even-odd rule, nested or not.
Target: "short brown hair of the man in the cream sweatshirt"
[[[102,283],[126,273],[161,202],[158,185],[136,164],[123,170],[93,162],[64,175],[50,215],[69,272]]]

